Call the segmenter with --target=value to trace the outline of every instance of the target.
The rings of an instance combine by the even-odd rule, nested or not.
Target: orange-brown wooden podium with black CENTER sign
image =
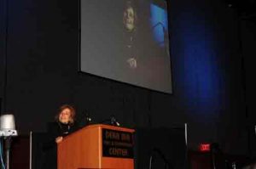
[[[58,169],[133,169],[133,129],[83,127],[58,144]]]

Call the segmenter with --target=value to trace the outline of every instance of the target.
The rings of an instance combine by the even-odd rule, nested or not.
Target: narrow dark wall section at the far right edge
[[[256,55],[256,15],[247,15],[241,18],[241,48],[244,63],[244,89],[247,98],[247,134],[249,138],[248,149],[254,158],[256,157],[256,114],[255,114],[255,81],[254,76],[254,57]]]

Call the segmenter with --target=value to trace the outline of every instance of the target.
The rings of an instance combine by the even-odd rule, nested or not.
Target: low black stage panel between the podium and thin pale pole
[[[134,138],[137,169],[189,168],[184,127],[136,128]]]

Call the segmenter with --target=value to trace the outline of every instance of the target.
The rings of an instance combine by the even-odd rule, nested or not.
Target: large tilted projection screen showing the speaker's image
[[[81,71],[172,93],[166,1],[81,0]]]

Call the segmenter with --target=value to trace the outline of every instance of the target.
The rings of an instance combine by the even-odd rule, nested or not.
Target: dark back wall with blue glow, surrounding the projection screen
[[[3,20],[0,27],[1,42],[7,42],[6,51],[0,47],[0,94],[6,92],[3,111],[15,114],[20,133],[44,131],[58,106],[68,103],[77,108],[78,119],[90,113],[97,122],[115,115],[125,127],[188,123],[193,149],[218,142],[227,152],[247,152],[234,9],[213,0],[169,2],[173,94],[168,95],[78,72],[79,1],[0,2],[9,6],[8,34]]]

